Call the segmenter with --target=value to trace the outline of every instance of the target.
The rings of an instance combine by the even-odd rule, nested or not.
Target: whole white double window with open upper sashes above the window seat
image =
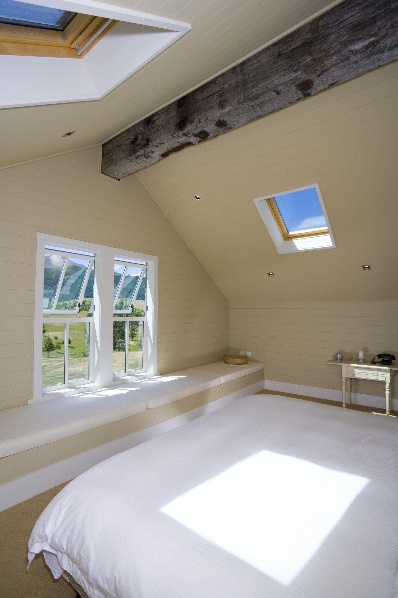
[[[158,258],[38,234],[33,401],[156,373]]]

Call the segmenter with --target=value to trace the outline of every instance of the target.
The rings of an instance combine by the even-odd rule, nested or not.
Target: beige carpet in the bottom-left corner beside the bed
[[[30,532],[42,510],[64,486],[0,513],[0,598],[75,598],[75,590],[63,578],[53,578],[42,554],[26,572]]]

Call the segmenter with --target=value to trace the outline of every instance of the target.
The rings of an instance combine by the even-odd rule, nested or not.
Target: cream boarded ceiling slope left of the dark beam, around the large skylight
[[[192,30],[101,100],[0,110],[0,167],[100,144],[337,2],[111,0]],[[61,136],[76,131],[69,138]],[[99,166],[98,166],[99,167]]]

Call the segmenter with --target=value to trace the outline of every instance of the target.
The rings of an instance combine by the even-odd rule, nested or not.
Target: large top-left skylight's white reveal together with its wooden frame
[[[191,29],[189,23],[92,0],[15,4],[36,1],[57,10],[61,4],[76,16],[63,32],[0,23],[6,39],[0,31],[0,108],[99,100]],[[13,38],[14,28],[29,38]],[[57,39],[56,46],[45,35]]]

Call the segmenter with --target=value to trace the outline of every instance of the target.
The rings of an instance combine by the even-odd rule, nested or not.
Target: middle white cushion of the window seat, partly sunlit
[[[153,409],[220,384],[218,376],[181,370],[124,384],[121,388],[129,389],[131,396],[146,401],[147,408]]]

